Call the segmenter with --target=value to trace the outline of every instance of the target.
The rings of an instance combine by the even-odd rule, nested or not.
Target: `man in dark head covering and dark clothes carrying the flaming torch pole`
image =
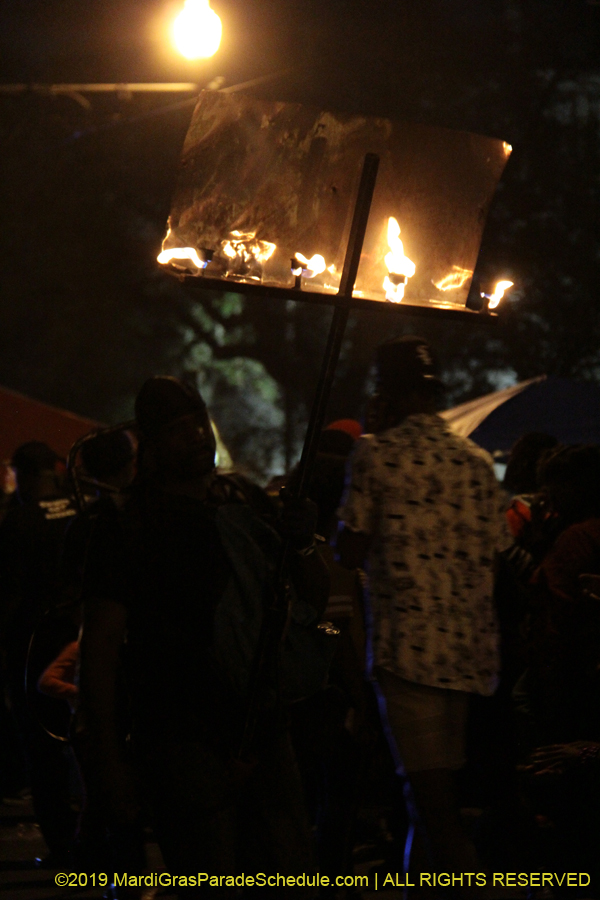
[[[299,778],[279,705],[270,702],[273,682],[264,685],[252,758],[236,755],[280,538],[248,502],[244,482],[215,472],[214,435],[195,389],[150,379],[136,418],[140,477],[121,513],[99,520],[84,588],[82,703],[109,814],[123,828],[139,816],[115,723],[127,630],[136,771],[170,871],[310,872]],[[314,552],[315,516],[298,505],[285,519],[298,551],[290,628],[300,618],[310,628],[328,588]],[[184,890],[211,889],[190,880]],[[224,880],[214,890],[235,895]]]

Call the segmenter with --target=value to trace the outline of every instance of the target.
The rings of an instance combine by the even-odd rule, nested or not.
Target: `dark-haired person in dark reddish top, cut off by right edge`
[[[600,447],[560,448],[540,482],[557,536],[532,586],[525,683],[536,744],[600,737],[600,616],[580,582],[600,574]]]

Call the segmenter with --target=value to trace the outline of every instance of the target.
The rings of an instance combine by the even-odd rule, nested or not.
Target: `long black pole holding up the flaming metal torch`
[[[342,269],[336,305],[329,327],[329,335],[325,353],[323,355],[323,361],[321,363],[319,381],[317,383],[306,437],[304,439],[302,456],[300,457],[296,478],[294,479],[292,494],[294,497],[301,497],[305,493],[314,469],[319,437],[323,429],[329,395],[331,393],[335,370],[340,357],[342,340],[344,338],[348,315],[350,313],[352,292],[354,290],[363,241],[365,239],[367,223],[369,221],[369,212],[371,209],[371,201],[373,199],[373,191],[375,190],[375,183],[377,181],[378,168],[379,157],[375,153],[367,153],[360,177],[358,195],[354,207],[348,245],[346,247],[344,268]],[[248,758],[254,736],[258,703],[263,687],[263,673],[267,666],[270,668],[270,664],[273,661],[272,654],[274,652],[276,653],[287,620],[289,593],[287,572],[290,552],[290,543],[289,541],[286,541],[279,559],[273,604],[265,615],[253,660],[247,713],[238,751],[238,757],[242,760]]]

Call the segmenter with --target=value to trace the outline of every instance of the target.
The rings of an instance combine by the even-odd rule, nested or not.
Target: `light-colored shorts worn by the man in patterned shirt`
[[[404,769],[461,769],[469,694],[405,681],[387,669],[376,668],[374,674]]]

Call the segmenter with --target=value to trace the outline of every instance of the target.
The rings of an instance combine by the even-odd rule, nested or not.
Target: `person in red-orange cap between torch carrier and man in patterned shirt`
[[[361,434],[360,423],[342,419],[321,433],[307,496],[319,510],[319,553],[329,569],[324,617],[339,631],[327,685],[295,703],[292,737],[314,821],[321,871],[351,874],[358,800],[377,739],[374,697],[365,679],[364,610],[360,573],[341,566],[330,541],[344,490],[346,464]],[[290,477],[293,484],[294,473]],[[335,888],[331,888],[335,893]]]

